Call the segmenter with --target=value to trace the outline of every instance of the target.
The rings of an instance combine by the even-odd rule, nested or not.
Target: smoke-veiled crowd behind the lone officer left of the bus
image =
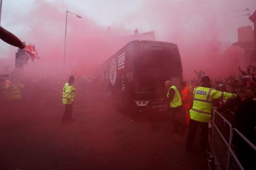
[[[74,74],[78,97],[86,98],[96,90],[97,81],[84,75]],[[16,73],[0,78],[0,105],[2,113],[33,114],[48,109],[62,108],[61,93],[68,77],[53,75],[21,76]],[[86,95],[85,95],[86,94]],[[93,98],[93,97],[92,97]],[[93,100],[93,99],[92,99]],[[83,101],[83,100],[79,100]]]

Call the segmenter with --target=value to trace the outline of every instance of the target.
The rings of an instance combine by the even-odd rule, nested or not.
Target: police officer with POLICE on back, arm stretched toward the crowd
[[[213,114],[213,104],[214,99],[231,99],[235,98],[236,94],[231,94],[227,92],[217,91],[210,88],[210,78],[205,75],[201,80],[201,86],[194,89],[194,100],[193,106],[190,109],[190,123],[189,132],[186,140],[185,148],[188,151],[192,150],[193,141],[196,134],[196,129],[198,124],[201,125],[201,149],[208,149],[208,122]]]

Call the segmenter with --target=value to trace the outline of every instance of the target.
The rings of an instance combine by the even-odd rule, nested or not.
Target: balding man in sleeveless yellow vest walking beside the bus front
[[[175,87],[169,80],[165,82],[165,87],[168,89],[168,92],[166,98],[163,98],[162,100],[169,102],[170,107],[168,108],[168,112],[170,113],[171,121],[174,127],[172,132],[182,134],[184,132],[185,126],[179,120],[179,118],[182,116],[179,115],[182,114],[180,92],[178,91],[177,87]]]

